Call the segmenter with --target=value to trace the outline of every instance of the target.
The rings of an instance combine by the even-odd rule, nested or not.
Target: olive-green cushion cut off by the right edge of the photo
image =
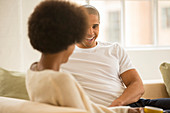
[[[166,90],[168,95],[170,96],[170,63],[162,63],[160,65],[160,71],[164,80],[164,84],[166,86]]]

